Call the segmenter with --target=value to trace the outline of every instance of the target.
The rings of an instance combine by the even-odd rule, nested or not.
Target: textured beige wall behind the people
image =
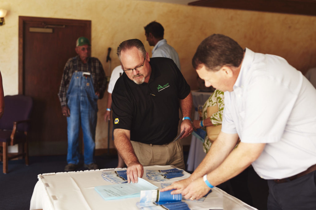
[[[92,56],[101,60],[106,74],[107,48],[112,48],[112,70],[119,65],[115,49],[126,39],[139,38],[151,55],[143,26],[156,20],[164,26],[168,43],[178,51],[182,73],[192,89],[197,88],[197,74],[191,58],[198,44],[213,33],[228,35],[255,52],[282,56],[302,72],[316,66],[315,16],[136,0],[4,0],[0,8],[8,9],[6,24],[0,26],[0,71],[5,95],[18,93],[18,16],[91,20]],[[107,124],[102,118],[106,100],[99,101],[97,148],[107,147]]]

